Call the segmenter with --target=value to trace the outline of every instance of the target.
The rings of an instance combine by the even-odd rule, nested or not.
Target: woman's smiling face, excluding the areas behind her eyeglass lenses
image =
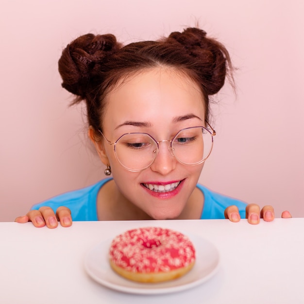
[[[169,68],[145,70],[119,83],[107,96],[102,131],[110,142],[126,133],[148,133],[155,140],[171,140],[187,127],[204,125],[204,101],[190,78]],[[103,141],[104,163],[128,201],[156,220],[177,218],[186,207],[203,164],[186,166],[172,156],[168,142],[159,143],[152,165],[132,172],[118,163],[113,146]],[[178,184],[176,188],[168,185]],[[156,192],[155,185],[165,192]]]

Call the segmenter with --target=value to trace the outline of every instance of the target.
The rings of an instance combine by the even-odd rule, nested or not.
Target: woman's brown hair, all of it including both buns
[[[205,119],[209,116],[209,95],[217,93],[231,75],[228,51],[198,28],[173,32],[158,41],[123,46],[112,34],[85,34],[68,44],[59,59],[62,86],[86,102],[89,125],[101,129],[106,96],[118,81],[146,68],[176,68],[201,88]],[[233,79],[233,78],[232,78]]]

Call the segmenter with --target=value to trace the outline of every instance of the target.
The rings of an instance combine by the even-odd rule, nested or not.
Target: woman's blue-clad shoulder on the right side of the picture
[[[214,192],[200,184],[198,184],[197,187],[204,195],[202,219],[224,219],[224,211],[231,205],[236,205],[239,209],[241,218],[245,218],[247,203],[218,192]]]

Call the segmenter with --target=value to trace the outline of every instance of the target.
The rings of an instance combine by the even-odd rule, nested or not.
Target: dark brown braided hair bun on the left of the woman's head
[[[62,52],[58,62],[62,86],[84,99],[89,81],[96,75],[96,66],[120,47],[112,34],[85,34],[72,41]]]

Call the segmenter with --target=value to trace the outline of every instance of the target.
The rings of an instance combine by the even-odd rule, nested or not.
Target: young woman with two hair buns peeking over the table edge
[[[86,102],[88,135],[113,178],[36,204],[16,221],[273,220],[271,206],[260,211],[198,185],[216,135],[209,96],[231,71],[224,46],[198,28],[126,46],[112,34],[74,40],[59,60],[62,86],[74,103]]]

